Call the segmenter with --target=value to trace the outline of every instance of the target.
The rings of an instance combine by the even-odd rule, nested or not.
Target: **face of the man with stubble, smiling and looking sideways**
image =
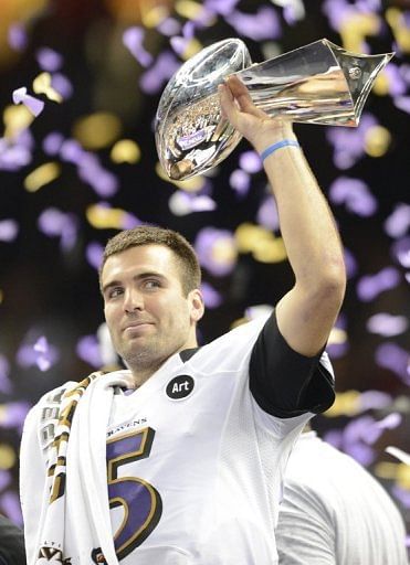
[[[155,372],[177,351],[196,347],[199,290],[183,296],[174,253],[140,245],[112,255],[102,273],[105,319],[114,347],[133,372]]]

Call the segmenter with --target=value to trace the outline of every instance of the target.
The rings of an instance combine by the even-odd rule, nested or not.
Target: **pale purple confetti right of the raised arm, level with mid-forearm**
[[[345,204],[346,210],[364,217],[377,211],[377,200],[360,179],[336,179],[329,188],[329,200],[334,204]]]

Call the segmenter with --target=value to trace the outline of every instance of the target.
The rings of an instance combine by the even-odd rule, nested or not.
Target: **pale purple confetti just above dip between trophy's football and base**
[[[276,40],[282,35],[280,19],[273,8],[262,7],[255,14],[234,10],[225,15],[239,35],[253,41]]]

